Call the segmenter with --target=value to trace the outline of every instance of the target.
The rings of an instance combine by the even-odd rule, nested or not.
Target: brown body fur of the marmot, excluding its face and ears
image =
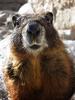
[[[8,94],[11,100],[69,100],[73,94],[72,62],[54,27],[38,21],[45,27],[49,47],[34,56],[21,48],[20,35],[13,36],[4,72]]]

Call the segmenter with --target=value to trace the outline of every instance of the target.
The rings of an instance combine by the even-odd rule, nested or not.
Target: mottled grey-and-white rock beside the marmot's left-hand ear
[[[8,19],[12,18],[14,14],[13,11],[0,11],[0,40],[11,34],[13,29],[12,20],[9,21]]]

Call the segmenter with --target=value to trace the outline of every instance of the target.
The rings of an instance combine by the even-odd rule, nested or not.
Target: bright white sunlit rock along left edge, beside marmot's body
[[[3,64],[6,61],[7,48],[9,44],[9,37],[0,41],[0,100],[8,100],[7,91],[3,80]]]

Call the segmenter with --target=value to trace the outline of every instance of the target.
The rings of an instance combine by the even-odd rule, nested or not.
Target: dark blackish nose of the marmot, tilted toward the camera
[[[28,28],[27,28],[27,34],[29,36],[36,37],[40,34],[40,25],[36,21],[32,21],[29,23]]]

